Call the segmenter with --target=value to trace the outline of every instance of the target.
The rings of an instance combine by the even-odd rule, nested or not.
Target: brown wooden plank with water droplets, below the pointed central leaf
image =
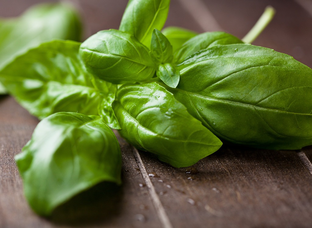
[[[223,147],[190,168],[140,153],[175,227],[310,227],[311,174],[293,151]]]

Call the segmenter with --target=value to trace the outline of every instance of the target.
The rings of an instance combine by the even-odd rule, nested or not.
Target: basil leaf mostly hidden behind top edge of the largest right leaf
[[[201,33],[187,40],[178,50],[176,50],[173,62],[181,63],[188,56],[213,46],[242,43],[243,41],[237,37],[225,32]]]

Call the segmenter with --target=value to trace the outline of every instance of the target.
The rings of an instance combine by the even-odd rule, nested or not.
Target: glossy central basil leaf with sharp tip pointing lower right
[[[222,145],[155,82],[122,86],[113,109],[122,129],[119,132],[126,140],[174,167],[193,165]]]

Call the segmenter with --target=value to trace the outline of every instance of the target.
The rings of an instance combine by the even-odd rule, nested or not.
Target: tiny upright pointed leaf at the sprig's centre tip
[[[150,52],[156,64],[170,62],[173,57],[169,40],[157,29],[153,31]]]

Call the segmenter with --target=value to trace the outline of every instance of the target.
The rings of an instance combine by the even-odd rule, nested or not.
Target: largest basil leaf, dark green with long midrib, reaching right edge
[[[223,45],[196,53],[180,69],[171,91],[223,140],[268,149],[312,144],[312,69],[291,56]]]

